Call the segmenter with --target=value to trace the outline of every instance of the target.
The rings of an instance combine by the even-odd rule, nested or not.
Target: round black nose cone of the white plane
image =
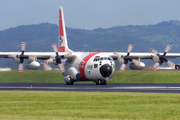
[[[109,64],[104,64],[100,67],[100,73],[103,77],[109,77],[112,73],[112,66]]]

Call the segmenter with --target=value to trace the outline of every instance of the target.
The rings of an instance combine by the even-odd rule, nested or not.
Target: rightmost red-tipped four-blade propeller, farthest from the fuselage
[[[155,57],[157,60],[155,61],[155,64],[153,66],[153,69],[156,70],[159,65],[161,65],[163,62],[166,62],[171,68],[174,67],[174,63],[166,59],[166,54],[171,50],[171,46],[167,45],[163,55],[160,55],[155,49],[151,48],[150,52],[155,54]]]

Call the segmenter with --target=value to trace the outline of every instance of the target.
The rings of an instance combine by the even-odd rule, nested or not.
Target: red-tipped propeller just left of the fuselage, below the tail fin
[[[48,63],[55,62],[55,63],[58,65],[60,72],[62,73],[62,72],[65,71],[64,65],[61,63],[61,58],[62,58],[62,56],[59,56],[56,44],[53,44],[53,45],[52,45],[52,48],[53,48],[56,56],[55,56],[54,59],[53,59],[53,58],[50,58],[50,59],[45,60],[45,63],[48,64]],[[63,56],[63,57],[64,57],[64,56]]]

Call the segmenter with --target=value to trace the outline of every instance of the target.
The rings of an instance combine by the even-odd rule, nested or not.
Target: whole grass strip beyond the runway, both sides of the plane
[[[63,83],[59,71],[0,72],[0,83]],[[109,83],[180,83],[180,71],[116,71]]]

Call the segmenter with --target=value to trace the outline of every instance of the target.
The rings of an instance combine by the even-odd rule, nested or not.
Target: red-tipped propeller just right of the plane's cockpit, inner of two
[[[134,46],[133,46],[132,44],[129,44],[128,49],[127,49],[127,55],[126,55],[126,56],[123,56],[123,55],[121,55],[121,54],[119,54],[119,53],[114,52],[114,54],[117,55],[117,61],[118,61],[120,64],[122,64],[121,67],[120,67],[120,71],[121,71],[121,72],[124,72],[128,61],[131,61],[131,62],[132,62],[133,64],[135,64],[135,65],[139,65],[139,64],[140,64],[140,61],[139,61],[139,60],[132,59],[132,58],[129,57],[129,55],[130,55],[133,47],[134,47]]]

